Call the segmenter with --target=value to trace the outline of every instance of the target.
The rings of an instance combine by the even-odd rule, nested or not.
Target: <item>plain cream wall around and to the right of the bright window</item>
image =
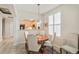
[[[48,21],[48,15],[61,12],[61,35],[66,33],[79,33],[79,5],[61,5],[43,14]],[[43,20],[44,20],[43,19]]]

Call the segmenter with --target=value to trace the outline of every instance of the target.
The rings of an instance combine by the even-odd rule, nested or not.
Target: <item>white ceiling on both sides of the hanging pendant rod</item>
[[[55,7],[59,6],[58,4],[41,4],[40,7],[40,14],[50,11]],[[16,4],[16,9],[19,11],[27,11],[31,13],[38,13],[38,6],[37,4]]]

